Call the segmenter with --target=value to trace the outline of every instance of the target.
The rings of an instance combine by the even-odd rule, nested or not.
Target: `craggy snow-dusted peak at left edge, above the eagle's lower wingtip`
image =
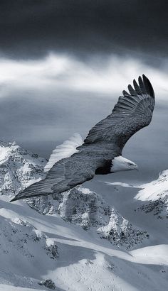
[[[15,195],[41,180],[46,159],[14,143],[0,142],[0,193]]]

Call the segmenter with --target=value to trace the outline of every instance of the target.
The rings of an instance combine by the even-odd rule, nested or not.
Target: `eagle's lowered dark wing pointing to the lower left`
[[[27,187],[11,201],[48,194],[58,194],[92,179],[95,175],[94,163],[90,162],[90,158],[85,159],[85,163],[83,163],[83,158],[85,157],[79,158],[78,155],[80,153],[75,153],[69,158],[59,160],[48,171],[44,180]]]

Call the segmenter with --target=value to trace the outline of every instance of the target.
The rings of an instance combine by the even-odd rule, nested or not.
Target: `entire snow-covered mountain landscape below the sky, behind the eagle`
[[[166,291],[167,224],[140,207],[166,199],[168,173],[139,192],[115,183],[105,193],[75,187],[10,203],[45,177],[45,165],[16,143],[0,144],[0,290]]]

